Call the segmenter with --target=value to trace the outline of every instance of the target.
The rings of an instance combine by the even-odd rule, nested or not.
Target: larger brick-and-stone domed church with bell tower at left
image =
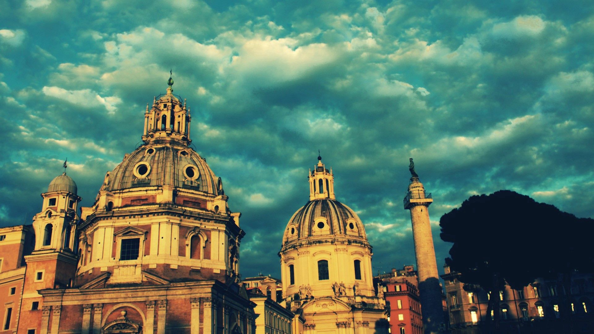
[[[78,210],[64,172],[32,226],[0,229],[0,293],[11,296],[0,333],[255,332],[255,304],[238,284],[241,214],[189,147],[190,111],[172,84],[93,206]]]

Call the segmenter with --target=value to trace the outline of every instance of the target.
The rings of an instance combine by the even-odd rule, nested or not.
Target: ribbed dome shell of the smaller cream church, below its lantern
[[[366,238],[365,228],[357,214],[345,204],[330,198],[309,201],[297,210],[287,224],[283,241],[318,235]]]

